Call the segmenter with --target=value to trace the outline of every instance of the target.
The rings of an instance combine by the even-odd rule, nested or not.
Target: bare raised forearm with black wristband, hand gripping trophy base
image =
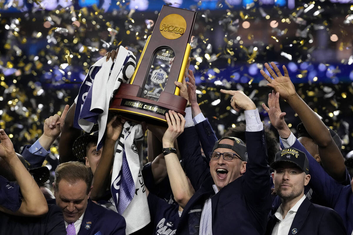
[[[185,119],[180,113],[169,110],[166,113],[168,129],[164,133],[162,144],[163,148],[174,148],[174,141],[184,131]],[[193,193],[187,182],[186,175],[181,168],[178,156],[176,153],[169,153],[164,155],[167,165],[167,172],[172,188],[174,199],[184,208],[186,203],[192,197]]]

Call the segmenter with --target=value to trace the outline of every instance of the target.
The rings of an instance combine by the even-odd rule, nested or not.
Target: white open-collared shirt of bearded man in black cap
[[[283,219],[282,214],[282,204],[280,207],[277,209],[275,216],[278,219],[277,223],[275,224],[275,227],[272,230],[272,235],[283,235],[283,234],[288,234],[289,229],[291,229],[293,219],[295,215],[297,214],[297,211],[299,209],[299,206],[301,203],[303,203],[305,200],[305,195],[299,199],[297,203],[288,211],[286,217]]]

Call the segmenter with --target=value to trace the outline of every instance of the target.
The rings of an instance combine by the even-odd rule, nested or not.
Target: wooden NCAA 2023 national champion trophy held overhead
[[[136,122],[166,126],[166,112],[185,116],[187,100],[174,81],[184,79],[196,12],[163,5],[147,39],[130,84],[121,84],[110,111]]]

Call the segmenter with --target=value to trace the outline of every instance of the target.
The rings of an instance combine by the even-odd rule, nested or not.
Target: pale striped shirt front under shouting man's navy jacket
[[[215,193],[218,193],[218,188],[214,184],[212,185]],[[205,200],[203,204],[202,212],[201,212],[201,220],[200,220],[200,230],[199,235],[212,235],[212,203],[211,197]]]

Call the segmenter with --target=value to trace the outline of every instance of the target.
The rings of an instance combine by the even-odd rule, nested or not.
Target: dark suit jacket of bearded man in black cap
[[[266,235],[271,235],[278,220],[275,216],[276,211],[277,209],[271,211]],[[347,233],[342,218],[336,211],[325,206],[313,204],[309,199],[305,198],[299,206],[289,229],[288,235],[292,234],[344,235]]]

